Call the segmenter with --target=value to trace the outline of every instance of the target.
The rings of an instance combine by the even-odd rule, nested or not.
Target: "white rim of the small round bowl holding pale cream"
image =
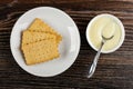
[[[86,27],[86,32],[85,32],[86,40],[88,40],[89,44],[90,44],[95,51],[99,50],[99,49],[96,49],[96,48],[92,44],[92,42],[91,42],[91,40],[90,40],[89,32],[90,32],[90,27],[91,27],[91,24],[92,24],[96,19],[99,19],[99,18],[101,18],[101,17],[110,17],[110,18],[112,18],[113,20],[115,20],[115,22],[116,22],[116,23],[120,26],[120,28],[121,28],[122,34],[121,34],[121,39],[120,39],[120,42],[117,43],[117,46],[116,46],[115,48],[111,49],[111,50],[108,50],[108,51],[102,50],[102,51],[101,51],[102,53],[114,52],[115,50],[117,50],[117,49],[122,46],[122,43],[123,43],[123,41],[124,41],[124,38],[125,38],[125,31],[124,31],[123,23],[122,23],[121,20],[117,19],[115,16],[112,16],[112,14],[109,14],[109,13],[103,13],[103,14],[98,14],[96,17],[94,17],[94,18],[89,22],[89,24],[88,24],[88,27]]]

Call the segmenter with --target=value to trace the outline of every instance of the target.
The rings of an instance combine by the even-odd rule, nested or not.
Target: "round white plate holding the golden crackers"
[[[61,33],[63,38],[59,47],[61,56],[48,62],[27,66],[20,50],[21,33],[34,18],[41,18]],[[52,77],[65,71],[75,61],[80,50],[80,34],[74,21],[65,12],[51,7],[39,7],[25,12],[16,22],[10,47],[16,61],[23,70],[39,77]]]

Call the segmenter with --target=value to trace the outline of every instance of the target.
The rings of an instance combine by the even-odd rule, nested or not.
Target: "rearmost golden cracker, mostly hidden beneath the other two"
[[[28,29],[30,31],[49,32],[49,33],[55,34],[58,42],[62,40],[61,34],[59,34],[55,30],[53,30],[49,24],[47,24],[39,18],[35,18]]]

